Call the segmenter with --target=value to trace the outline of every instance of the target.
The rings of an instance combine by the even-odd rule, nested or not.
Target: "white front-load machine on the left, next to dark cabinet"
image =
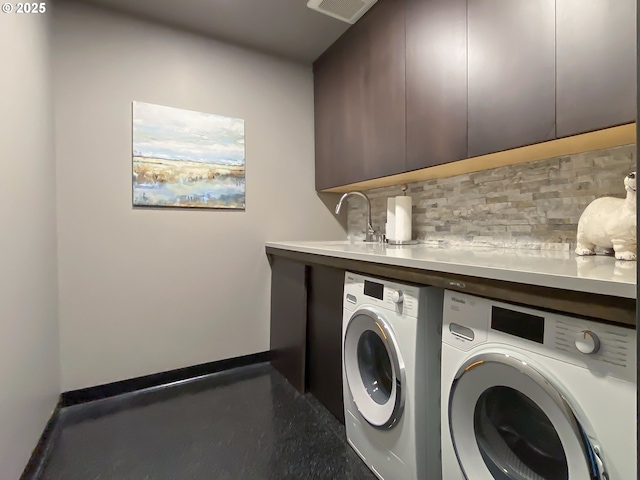
[[[433,287],[345,274],[347,439],[384,480],[440,478],[443,294]]]

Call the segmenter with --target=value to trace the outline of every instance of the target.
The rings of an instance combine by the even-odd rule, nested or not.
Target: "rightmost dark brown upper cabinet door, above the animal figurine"
[[[636,1],[558,0],[558,137],[636,118]]]

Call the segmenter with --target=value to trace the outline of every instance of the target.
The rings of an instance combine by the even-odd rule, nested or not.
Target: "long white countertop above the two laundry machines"
[[[268,247],[364,262],[636,298],[636,262],[573,252],[500,248],[403,247],[362,241],[267,242]]]

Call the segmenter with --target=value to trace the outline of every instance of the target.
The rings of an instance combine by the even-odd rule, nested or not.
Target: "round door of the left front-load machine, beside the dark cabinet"
[[[389,322],[372,308],[349,319],[342,362],[353,401],[374,427],[392,428],[404,408],[404,363]]]

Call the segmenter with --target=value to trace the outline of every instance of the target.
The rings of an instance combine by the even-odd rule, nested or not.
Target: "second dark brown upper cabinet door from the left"
[[[467,0],[407,0],[407,171],[467,156]]]

